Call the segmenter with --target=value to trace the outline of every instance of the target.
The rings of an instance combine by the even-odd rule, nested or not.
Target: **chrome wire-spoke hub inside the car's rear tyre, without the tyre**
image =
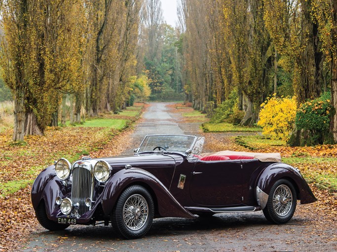
[[[286,185],[280,185],[276,188],[273,195],[273,208],[277,215],[286,216],[293,205],[293,194]]]

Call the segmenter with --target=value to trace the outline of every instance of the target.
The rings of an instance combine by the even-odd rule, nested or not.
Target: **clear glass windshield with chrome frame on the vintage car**
[[[148,135],[144,138],[138,152],[168,151],[185,153],[187,150],[192,151],[196,142],[198,142],[196,149],[199,150],[200,141],[197,141],[198,139],[196,136],[187,135]]]

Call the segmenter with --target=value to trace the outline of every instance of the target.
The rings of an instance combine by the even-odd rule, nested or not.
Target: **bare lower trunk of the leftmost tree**
[[[18,87],[14,98],[14,132],[13,141],[23,141],[25,135],[24,90]]]

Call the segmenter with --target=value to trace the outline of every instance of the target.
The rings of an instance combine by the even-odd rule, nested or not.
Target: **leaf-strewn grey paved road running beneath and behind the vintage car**
[[[147,133],[187,132],[180,127],[178,114],[172,114],[166,103],[151,103],[133,133],[135,145]],[[198,132],[195,132],[197,134]],[[132,153],[126,150],[124,154]],[[118,251],[118,252],[223,252],[223,251],[336,251],[337,245],[326,239],[336,234],[308,216],[310,205],[299,205],[292,221],[272,225],[261,212],[219,214],[194,221],[179,218],[154,220],[146,237],[122,240],[108,226],[72,226],[65,231],[49,232],[39,228],[31,234],[25,251]]]

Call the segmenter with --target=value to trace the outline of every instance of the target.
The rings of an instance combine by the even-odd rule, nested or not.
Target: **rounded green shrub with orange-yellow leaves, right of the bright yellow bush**
[[[307,101],[300,106],[296,114],[296,126],[309,132],[313,145],[323,144],[329,135],[330,119],[334,113],[331,94],[324,93],[319,98]]]

